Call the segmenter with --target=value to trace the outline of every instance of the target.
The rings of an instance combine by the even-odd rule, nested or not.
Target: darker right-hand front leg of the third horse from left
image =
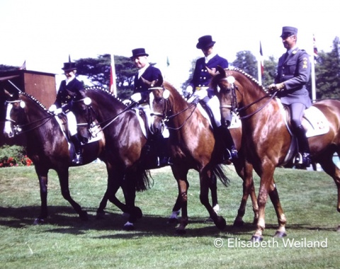
[[[218,229],[225,229],[226,222],[223,217],[217,215],[217,212],[212,208],[209,202],[209,188],[211,185],[211,172],[200,172],[200,202],[208,210],[210,218],[215,223]]]

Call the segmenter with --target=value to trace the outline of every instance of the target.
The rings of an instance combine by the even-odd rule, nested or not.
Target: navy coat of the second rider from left
[[[140,76],[139,79],[138,74],[135,76],[135,87],[133,93],[141,93],[142,99],[145,100],[145,98],[147,98],[147,94],[149,94],[147,90],[150,86],[148,84],[145,84],[145,82],[142,81],[142,78],[146,79],[147,81],[163,81],[163,76],[161,71],[158,68],[153,67],[152,65],[145,69],[144,73],[142,74],[142,76]]]

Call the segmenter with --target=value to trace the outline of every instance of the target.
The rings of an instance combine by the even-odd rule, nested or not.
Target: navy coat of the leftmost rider
[[[83,89],[83,84],[75,78],[72,79],[72,81],[69,81],[69,84],[66,84],[66,80],[63,80],[60,83],[57,98],[55,100],[55,105],[57,106],[57,108],[62,107],[63,110],[64,108],[70,109],[72,101],[82,98],[80,91],[82,91]]]

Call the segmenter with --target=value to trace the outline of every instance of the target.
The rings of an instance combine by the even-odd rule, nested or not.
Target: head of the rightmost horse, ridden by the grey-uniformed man
[[[227,71],[222,67],[217,67],[217,73],[212,77],[210,87],[213,88],[220,101],[221,123],[228,126],[232,118],[232,112],[237,110],[234,76],[227,74]]]

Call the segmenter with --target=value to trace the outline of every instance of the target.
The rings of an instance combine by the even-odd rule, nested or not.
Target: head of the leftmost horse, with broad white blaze
[[[13,95],[5,91],[6,98],[6,122],[4,127],[4,135],[6,137],[14,137],[21,132],[21,125],[26,123],[25,106],[19,96]]]

